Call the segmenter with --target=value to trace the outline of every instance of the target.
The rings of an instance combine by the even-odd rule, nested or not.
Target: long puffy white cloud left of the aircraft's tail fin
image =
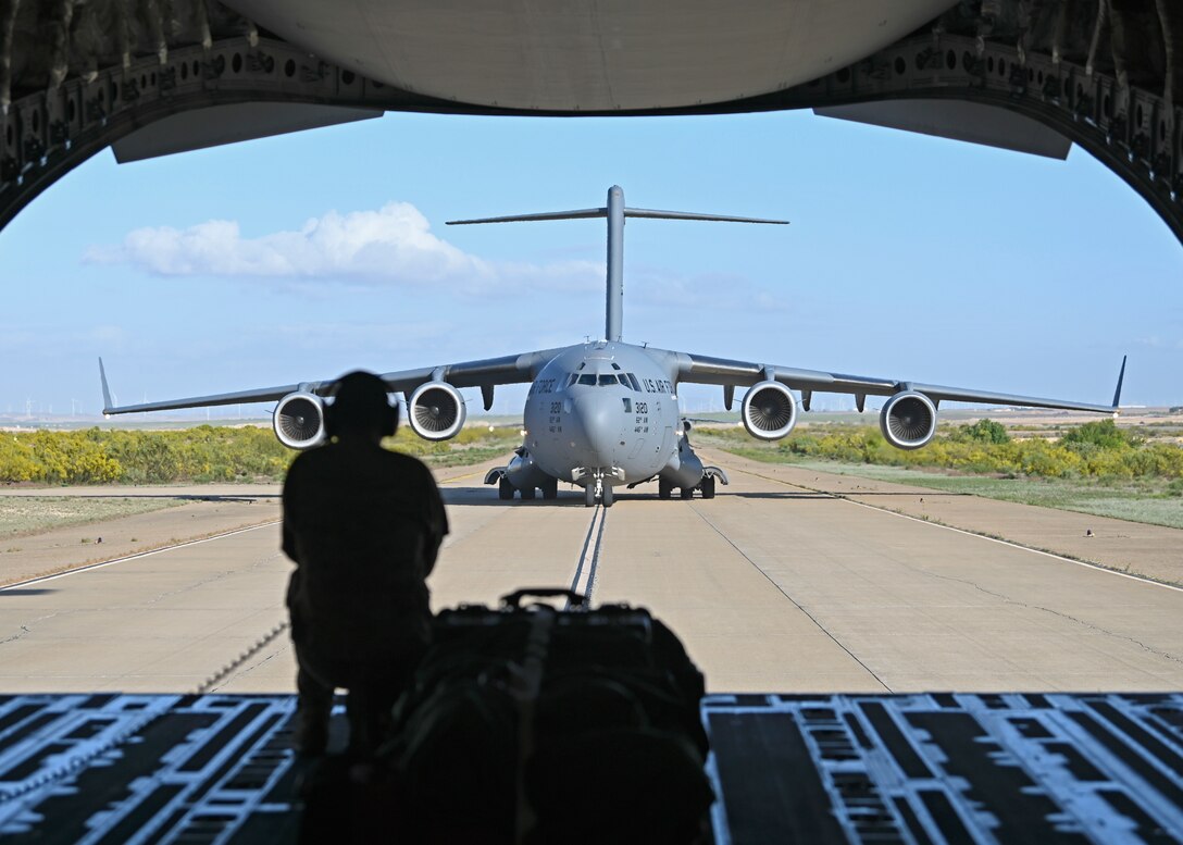
[[[222,276],[291,282],[337,280],[399,286],[440,283],[467,289],[594,288],[603,265],[568,260],[538,266],[486,262],[435,237],[408,202],[312,218],[298,231],[244,238],[237,221],[185,230],[137,228],[118,246],[95,246],[84,260],[130,264],[157,276]]]

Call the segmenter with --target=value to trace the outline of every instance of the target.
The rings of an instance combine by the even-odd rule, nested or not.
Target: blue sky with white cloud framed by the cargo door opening
[[[626,340],[1084,401],[1107,401],[1129,353],[1126,402],[1183,404],[1183,249],[1081,150],[808,112],[388,115],[104,151],[50,188],[0,231],[0,413],[96,413],[98,355],[131,402],[600,336],[602,221],[444,221],[597,206],[613,183],[634,206],[793,221],[631,221]]]

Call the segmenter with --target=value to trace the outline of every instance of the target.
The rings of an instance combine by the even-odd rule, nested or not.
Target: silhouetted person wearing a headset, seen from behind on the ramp
[[[425,579],[447,518],[428,469],[381,446],[399,425],[381,379],[342,376],[324,422],[329,441],[298,456],[284,482],[295,741],[324,752],[340,686],[349,690],[350,749],[368,753],[431,639]]]

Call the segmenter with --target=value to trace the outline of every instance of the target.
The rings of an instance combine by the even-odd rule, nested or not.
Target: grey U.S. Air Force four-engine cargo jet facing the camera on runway
[[[748,433],[762,440],[788,436],[797,422],[799,406],[808,411],[814,393],[853,394],[859,411],[868,395],[890,396],[879,422],[884,438],[898,449],[919,449],[932,439],[942,400],[1114,414],[1118,411],[1124,360],[1113,404],[1090,405],[731,361],[623,342],[626,218],[767,224],[783,224],[783,220],[628,208],[623,191],[614,186],[608,189],[603,208],[457,220],[450,225],[601,217],[608,219],[603,340],[381,376],[392,393],[405,394],[412,430],[428,440],[447,440],[464,426],[465,401],[458,388],[479,387],[489,411],[497,385],[530,385],[524,409],[525,439],[508,466],[497,467],[485,477],[486,484],[498,485],[503,499],[513,498],[515,492],[531,499],[539,489],[543,498],[555,498],[562,480],[583,488],[589,507],[600,502],[607,508],[613,503],[615,488],[632,488],[653,479],[661,498],[670,498],[675,488],[681,498],[691,498],[694,490],[703,498],[712,498],[716,483],[726,484],[728,479],[720,469],[704,466],[684,436],[677,393],[684,382],[722,386],[728,409],[735,388],[748,388],[741,417]],[[112,407],[102,360],[98,366],[105,414],[278,400],[272,425],[280,443],[292,449],[310,449],[325,438],[324,401],[332,395],[331,380]],[[794,392],[800,393],[800,400]]]

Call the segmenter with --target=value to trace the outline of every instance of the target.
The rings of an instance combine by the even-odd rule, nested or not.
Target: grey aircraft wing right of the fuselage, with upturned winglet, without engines
[[[671,356],[671,370],[679,382],[702,385],[722,385],[730,395],[729,388],[751,387],[761,381],[778,381],[789,388],[800,391],[802,404],[809,408],[813,393],[843,393],[854,395],[859,409],[865,399],[871,396],[890,396],[900,391],[923,393],[933,402],[942,400],[956,402],[978,402],[982,405],[1017,405],[1033,408],[1058,408],[1064,411],[1091,411],[1097,413],[1114,413],[1121,394],[1121,380],[1125,376],[1125,359],[1121,360],[1121,372],[1118,375],[1117,391],[1112,405],[1075,402],[1062,399],[1045,399],[1040,396],[1021,396],[1010,393],[975,391],[963,387],[945,387],[943,385],[925,385],[901,379],[875,379],[843,373],[826,373],[814,369],[799,369],[778,365],[731,361],[728,359],[690,355],[686,353],[666,353]],[[729,402],[730,405],[730,402]]]

